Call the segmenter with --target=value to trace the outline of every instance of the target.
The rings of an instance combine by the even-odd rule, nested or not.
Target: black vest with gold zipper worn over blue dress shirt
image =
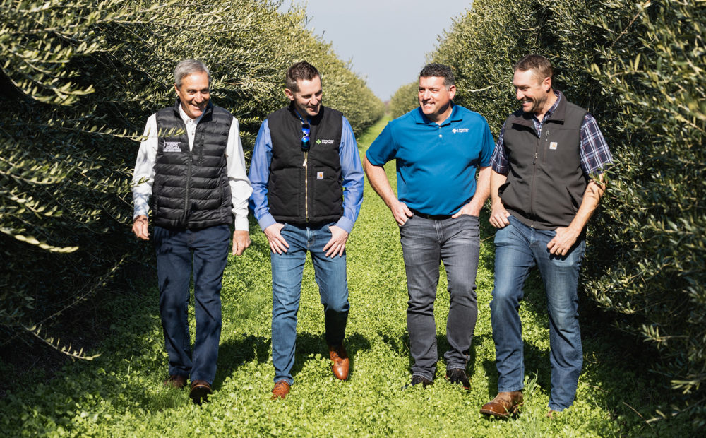
[[[339,153],[343,115],[322,106],[310,125],[311,146],[304,165],[301,120],[293,105],[268,116],[272,138],[268,206],[280,223],[333,222],[343,215]]]

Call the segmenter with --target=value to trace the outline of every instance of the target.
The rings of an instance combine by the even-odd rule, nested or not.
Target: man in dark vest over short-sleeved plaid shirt
[[[503,124],[491,160],[495,288],[491,307],[498,395],[481,413],[505,417],[522,404],[525,379],[520,301],[534,266],[544,280],[549,312],[549,413],[571,406],[582,367],[578,273],[586,225],[605,189],[612,158],[585,109],[552,89],[551,63],[541,55],[514,66],[522,108]]]

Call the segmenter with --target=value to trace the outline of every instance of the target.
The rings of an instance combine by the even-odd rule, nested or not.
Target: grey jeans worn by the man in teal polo
[[[414,215],[400,227],[400,242],[409,293],[407,331],[414,359],[412,375],[433,380],[436,374],[434,301],[441,261],[446,268],[450,295],[446,369],[465,369],[478,316],[478,217],[461,215],[455,219],[431,220]]]

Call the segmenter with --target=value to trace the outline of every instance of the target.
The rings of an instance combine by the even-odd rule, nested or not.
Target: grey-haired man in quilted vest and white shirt
[[[221,278],[228,248],[240,255],[250,244],[248,197],[238,121],[210,102],[211,78],[201,61],[186,59],[174,71],[177,101],[152,114],[133,174],[133,232],[157,251],[160,315],[169,355],[164,386],[191,379],[195,403],[211,393],[221,330]],[[235,231],[230,234],[230,225]],[[193,270],[196,343],[189,338],[189,283]]]

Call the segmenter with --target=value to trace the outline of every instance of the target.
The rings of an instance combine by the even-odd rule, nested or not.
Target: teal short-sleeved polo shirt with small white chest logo
[[[397,198],[428,215],[452,215],[476,192],[476,169],[490,165],[493,134],[486,119],[453,105],[439,125],[420,108],[385,126],[366,151],[372,165],[397,161]]]

